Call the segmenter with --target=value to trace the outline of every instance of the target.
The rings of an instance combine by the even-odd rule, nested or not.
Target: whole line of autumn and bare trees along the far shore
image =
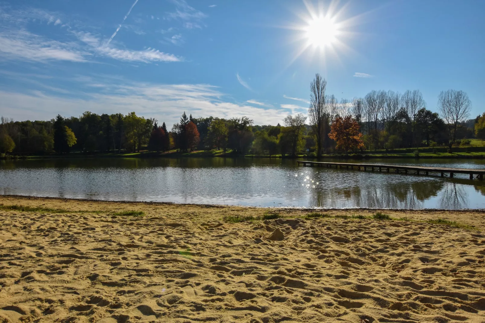
[[[463,91],[439,94],[439,113],[427,109],[419,90],[400,94],[371,91],[365,97],[338,100],[326,93],[319,74],[310,83],[308,117],[288,115],[276,126],[254,125],[248,117],[194,118],[185,112],[170,130],[154,118],[82,113],[49,121],[1,117],[0,153],[49,154],[79,151],[164,152],[177,149],[224,150],[237,155],[296,155],[355,150],[447,146],[458,139],[485,139],[485,113],[468,119],[471,102]]]

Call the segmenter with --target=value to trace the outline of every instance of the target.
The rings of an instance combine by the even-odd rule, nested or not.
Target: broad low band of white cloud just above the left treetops
[[[37,120],[49,120],[55,114],[80,115],[94,113],[129,113],[155,117],[167,124],[175,123],[182,111],[194,116],[221,118],[248,116],[256,124],[277,124],[291,109],[254,107],[226,100],[218,87],[208,84],[153,84],[131,82],[97,75],[78,77],[70,95],[51,93],[47,89],[12,91],[0,88],[0,110],[5,116],[24,120],[26,115]],[[70,85],[72,85],[70,84]],[[96,85],[96,86],[93,86]]]

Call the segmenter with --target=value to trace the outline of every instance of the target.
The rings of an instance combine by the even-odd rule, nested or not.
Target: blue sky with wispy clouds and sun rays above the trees
[[[171,125],[186,111],[275,125],[307,112],[319,72],[339,99],[420,89],[433,111],[441,90],[463,90],[474,117],[483,12],[478,0],[0,1],[0,114],[135,111]],[[317,46],[307,27],[321,16],[332,37]]]

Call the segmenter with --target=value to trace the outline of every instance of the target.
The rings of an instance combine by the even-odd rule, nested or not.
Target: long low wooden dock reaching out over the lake
[[[415,172],[414,174],[420,175],[429,173],[439,173],[441,177],[445,176],[445,173],[450,173],[450,178],[453,178],[454,174],[468,174],[470,179],[476,175],[478,179],[483,180],[485,175],[485,169],[470,169],[470,168],[441,168],[441,167],[426,167],[426,166],[405,166],[405,165],[380,165],[380,164],[361,164],[361,163],[348,163],[348,162],[328,162],[328,161],[298,161],[298,164],[303,166],[312,167],[334,167],[346,168],[346,169],[364,169],[364,171],[371,169],[373,171],[390,172],[392,169],[395,173],[408,174],[408,172]]]

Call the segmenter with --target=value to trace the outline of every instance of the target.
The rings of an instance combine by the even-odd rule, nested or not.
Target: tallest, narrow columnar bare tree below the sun
[[[317,157],[322,155],[322,144],[325,136],[325,127],[329,119],[325,109],[325,90],[327,81],[320,74],[315,74],[315,79],[310,83],[310,107],[308,116],[317,137]]]

